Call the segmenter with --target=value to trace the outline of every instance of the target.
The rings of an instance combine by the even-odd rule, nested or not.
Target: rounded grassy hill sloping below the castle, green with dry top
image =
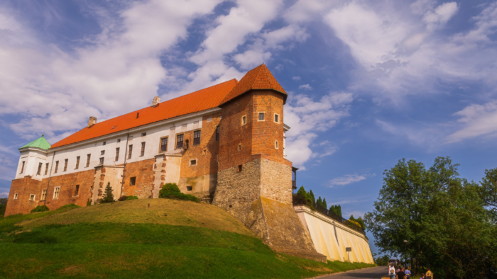
[[[0,278],[310,278],[349,269],[276,254],[218,207],[165,199],[0,218],[0,266]]]

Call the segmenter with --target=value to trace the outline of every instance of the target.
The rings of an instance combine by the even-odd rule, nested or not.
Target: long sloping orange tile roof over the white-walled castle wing
[[[133,111],[132,113],[102,121],[101,123],[96,123],[91,127],[84,127],[82,130],[75,132],[69,137],[56,142],[52,145],[52,148],[75,142],[82,142],[94,137],[102,137],[114,132],[128,130],[133,127],[151,124],[160,120],[175,118],[180,115],[197,113],[209,108],[216,108],[222,103],[228,93],[230,93],[231,89],[234,89],[236,84],[238,84],[238,81],[236,81],[236,79],[231,79],[231,81],[225,81],[222,84],[217,84],[185,96],[165,101],[158,106],[149,106],[147,108],[142,108],[141,110]],[[136,118],[136,113],[139,113],[138,118]]]

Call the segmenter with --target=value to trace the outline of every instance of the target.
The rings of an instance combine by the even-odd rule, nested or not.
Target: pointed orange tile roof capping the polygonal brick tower
[[[285,89],[283,89],[278,81],[276,81],[273,74],[269,72],[268,67],[266,67],[265,64],[261,64],[261,66],[258,66],[247,72],[245,76],[241,78],[240,82],[236,84],[234,89],[231,90],[231,92],[229,92],[226,97],[224,97],[221,104],[224,104],[231,99],[236,98],[241,94],[253,89],[273,89],[275,91],[283,93],[285,95],[285,102],[286,97],[288,96]]]

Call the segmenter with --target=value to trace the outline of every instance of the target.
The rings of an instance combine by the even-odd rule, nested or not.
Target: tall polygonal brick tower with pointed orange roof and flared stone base
[[[316,252],[292,205],[292,163],[283,156],[287,96],[262,64],[224,98],[213,203],[273,250],[326,261]]]

